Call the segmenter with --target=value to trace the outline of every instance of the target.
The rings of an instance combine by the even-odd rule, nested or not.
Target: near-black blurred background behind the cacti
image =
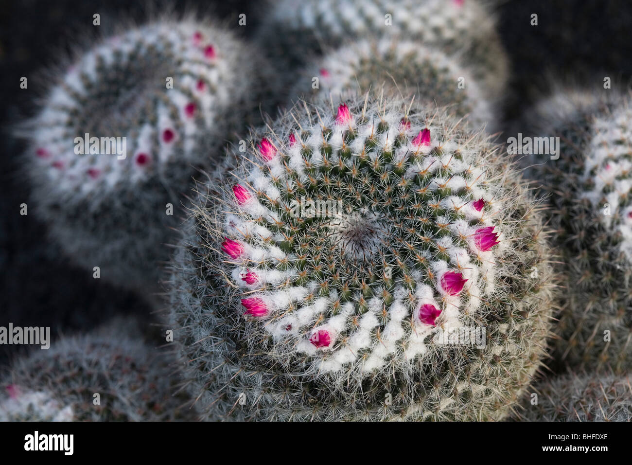
[[[360,2],[361,0],[358,0]],[[448,0],[446,0],[448,1]],[[468,0],[466,0],[468,1]],[[513,79],[505,108],[506,122],[549,88],[554,76],[588,85],[603,78],[628,83],[632,75],[632,1],[623,0],[507,0],[500,1],[499,31],[511,59]],[[172,3],[156,1],[155,11]],[[226,20],[243,35],[257,25],[262,0],[189,1],[176,11],[197,7]],[[28,203],[27,183],[21,177],[23,146],[11,137],[11,126],[34,111],[33,98],[44,89],[38,71],[54,65],[69,46],[89,46],[99,32],[92,15],[101,15],[101,28],[116,18],[143,20],[147,3],[133,0],[0,0],[0,326],[51,326],[52,334],[88,330],[115,314],[145,316],[150,309],[135,295],[92,278],[48,244],[46,228],[33,214],[20,216]],[[246,13],[248,25],[237,28]],[[530,25],[532,13],[538,26]],[[101,32],[102,32],[101,30]],[[20,89],[20,77],[28,89]],[[502,138],[501,139],[506,139]],[[0,345],[0,365],[20,350]]]

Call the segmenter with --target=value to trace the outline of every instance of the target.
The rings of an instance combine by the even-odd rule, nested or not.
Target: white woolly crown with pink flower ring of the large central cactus
[[[425,109],[350,105],[308,109],[265,134],[237,175],[252,198],[233,202],[222,238],[231,285],[267,309],[262,330],[278,350],[313,357],[315,371],[383,367],[399,344],[423,352],[435,319],[420,307],[453,324],[476,313],[511,234],[495,228],[503,199],[480,139],[454,137]],[[367,344],[372,332],[382,342]],[[324,333],[329,342],[314,344]]]

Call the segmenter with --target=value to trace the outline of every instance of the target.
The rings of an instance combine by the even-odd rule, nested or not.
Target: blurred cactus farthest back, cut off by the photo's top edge
[[[300,69],[313,54],[348,39],[374,37],[413,40],[458,55],[490,99],[506,85],[507,58],[494,14],[475,0],[280,0],[258,32],[283,69]]]

